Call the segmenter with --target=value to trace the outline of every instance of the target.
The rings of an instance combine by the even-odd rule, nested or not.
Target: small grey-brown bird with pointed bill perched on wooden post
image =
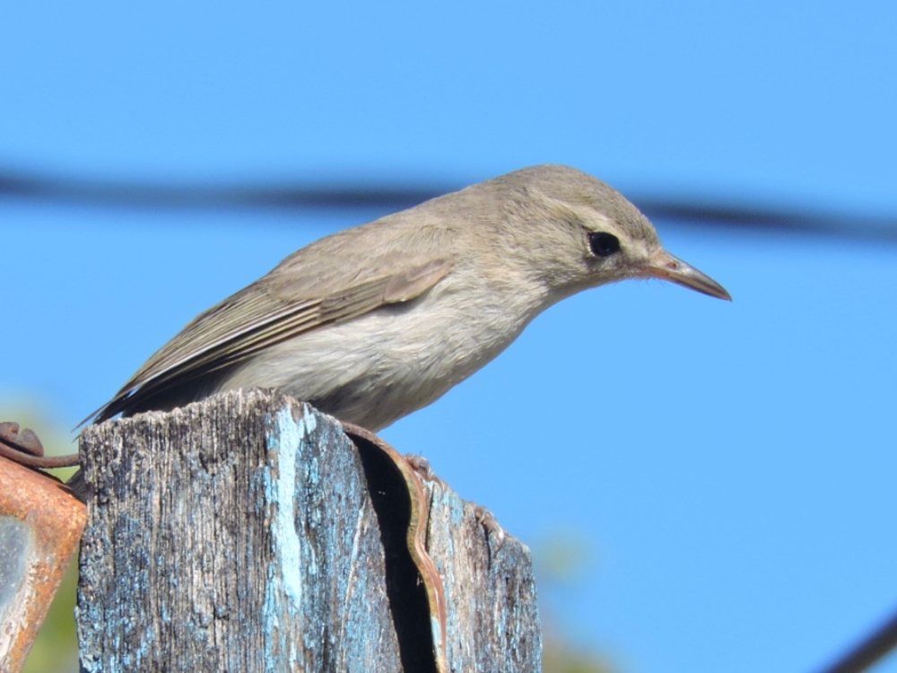
[[[378,431],[440,398],[589,287],[721,285],[605,183],[536,166],[335,233],[205,311],[92,416],[274,388]]]

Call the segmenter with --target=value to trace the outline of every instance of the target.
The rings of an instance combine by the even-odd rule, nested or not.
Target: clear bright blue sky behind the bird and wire
[[[894,217],[895,28],[885,3],[7,5],[0,168],[466,184],[562,162]],[[74,425],[197,312],[379,214],[0,200],[0,394]],[[384,435],[524,541],[588,540],[555,611],[621,669],[817,669],[897,607],[897,246],[656,224],[735,302],[581,294]]]

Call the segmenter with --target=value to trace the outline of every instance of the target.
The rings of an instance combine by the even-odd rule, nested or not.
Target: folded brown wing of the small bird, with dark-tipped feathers
[[[86,420],[107,420],[141,400],[239,363],[311,329],[351,320],[387,304],[411,301],[439,283],[450,267],[448,261],[434,259],[369,280],[356,276],[343,288],[324,293],[319,283],[311,284],[317,290],[312,293],[308,283],[300,292],[289,283],[277,283],[275,269],[191,321],[144,363],[109,404]]]

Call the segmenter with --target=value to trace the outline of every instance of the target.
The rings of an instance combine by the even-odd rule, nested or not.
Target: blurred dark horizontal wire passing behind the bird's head
[[[77,179],[0,169],[0,198],[100,207],[175,209],[350,209],[411,207],[464,187],[461,181],[384,182],[357,179],[279,184],[188,184]],[[760,229],[897,243],[897,216],[833,214],[764,202],[751,207],[722,198],[632,195],[642,212],[691,225]]]

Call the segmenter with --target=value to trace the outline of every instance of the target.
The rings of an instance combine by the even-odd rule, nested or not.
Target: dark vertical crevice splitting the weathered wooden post
[[[405,673],[437,673],[430,626],[430,604],[408,551],[411,520],[408,487],[389,457],[369,441],[353,437],[368,482],[386,557],[389,612],[396,625]]]

